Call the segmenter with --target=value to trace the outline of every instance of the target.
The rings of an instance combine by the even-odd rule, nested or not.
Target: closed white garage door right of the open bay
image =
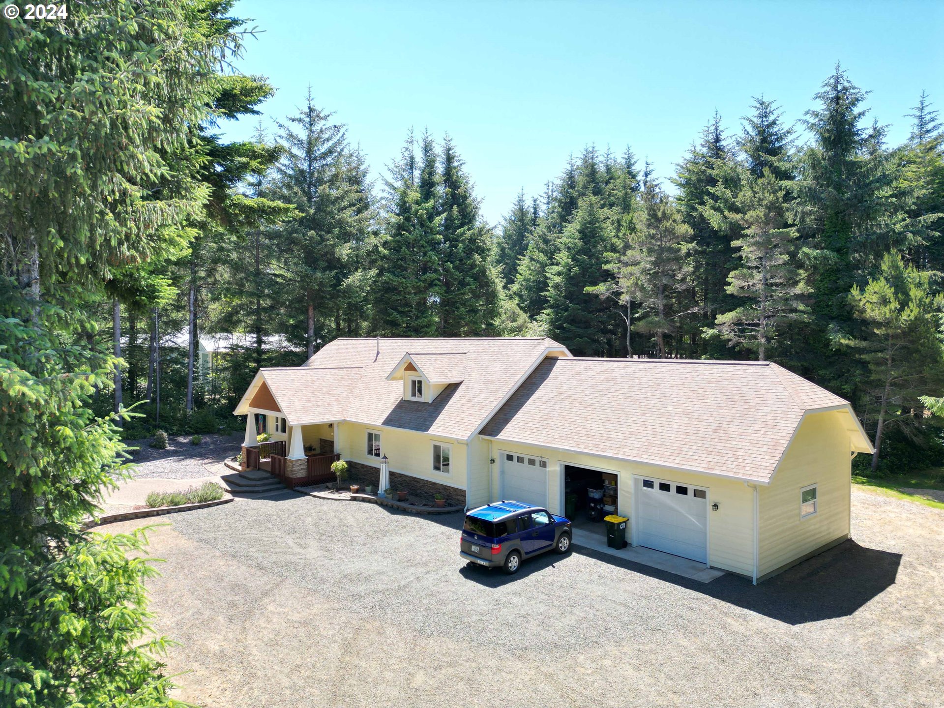
[[[706,563],[708,490],[635,478],[636,543]]]

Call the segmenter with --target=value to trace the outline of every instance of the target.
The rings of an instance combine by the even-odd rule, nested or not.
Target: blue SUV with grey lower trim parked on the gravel
[[[470,564],[514,575],[521,561],[553,548],[570,549],[570,522],[520,501],[497,501],[465,514],[461,555]]]

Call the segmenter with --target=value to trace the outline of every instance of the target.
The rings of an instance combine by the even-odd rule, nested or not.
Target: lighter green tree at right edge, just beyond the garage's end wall
[[[851,344],[868,365],[868,410],[873,412],[868,419],[875,425],[873,472],[885,431],[919,423],[922,395],[938,395],[944,383],[938,337],[944,295],[934,293],[931,278],[931,273],[920,272],[891,252],[864,288],[852,287],[856,316],[866,324],[862,337]],[[933,405],[933,398],[929,402]]]

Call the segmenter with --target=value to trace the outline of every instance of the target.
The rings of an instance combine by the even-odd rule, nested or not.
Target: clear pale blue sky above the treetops
[[[718,110],[739,130],[751,96],[795,121],[841,61],[907,137],[926,90],[944,112],[944,2],[289,2],[242,0],[261,30],[236,66],[278,89],[263,125],[311,84],[385,174],[407,130],[448,132],[497,223],[588,143],[630,144],[660,177]],[[224,126],[248,137],[255,119]],[[667,181],[667,180],[666,180]]]

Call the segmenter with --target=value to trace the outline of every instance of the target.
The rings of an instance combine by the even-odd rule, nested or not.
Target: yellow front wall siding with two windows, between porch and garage
[[[450,487],[465,489],[467,452],[464,442],[412,430],[397,430],[359,423],[341,423],[335,446],[345,460],[378,467],[376,457],[367,455],[367,430],[380,433],[380,453],[387,456],[390,469],[421,480],[438,481]],[[451,471],[448,474],[432,469],[432,444],[452,446]]]

